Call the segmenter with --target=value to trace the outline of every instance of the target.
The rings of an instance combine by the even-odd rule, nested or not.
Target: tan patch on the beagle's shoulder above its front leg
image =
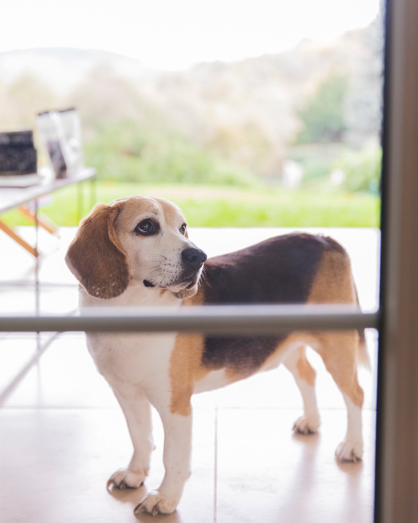
[[[203,292],[184,300],[183,305],[202,305]],[[178,334],[170,357],[169,377],[171,384],[172,414],[190,416],[190,398],[194,384],[210,371],[201,365],[205,338],[202,334]]]

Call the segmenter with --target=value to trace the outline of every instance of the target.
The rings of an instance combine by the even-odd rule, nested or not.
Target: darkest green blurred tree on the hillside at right
[[[319,85],[316,93],[298,111],[305,129],[297,135],[297,143],[340,142],[345,131],[343,101],[347,77],[331,74]]]

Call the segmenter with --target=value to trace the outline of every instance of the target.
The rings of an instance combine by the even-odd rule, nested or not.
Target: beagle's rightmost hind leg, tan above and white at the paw
[[[321,333],[313,348],[321,356],[328,372],[342,392],[347,406],[347,434],[335,451],[338,461],[358,461],[363,456],[362,406],[363,389],[358,384],[357,331]]]

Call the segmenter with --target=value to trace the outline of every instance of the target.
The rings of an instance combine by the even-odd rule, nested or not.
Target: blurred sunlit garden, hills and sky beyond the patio
[[[378,0],[17,0],[0,127],[76,107],[100,201],[165,196],[196,226],[375,226],[381,53]],[[43,211],[75,225],[74,192]]]

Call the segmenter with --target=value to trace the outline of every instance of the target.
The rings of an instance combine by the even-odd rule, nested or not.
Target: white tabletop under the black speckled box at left
[[[41,177],[41,181],[37,185],[21,188],[0,187],[0,214],[15,209],[16,207],[20,207],[22,204],[46,195],[49,192],[62,189],[67,185],[88,180],[89,178],[96,176],[96,172],[97,171],[94,167],[81,167],[72,176],[56,179],[52,170],[50,170],[45,172],[45,175]]]

